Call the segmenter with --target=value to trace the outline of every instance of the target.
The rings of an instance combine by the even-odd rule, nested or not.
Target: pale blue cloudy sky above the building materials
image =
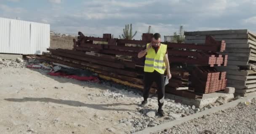
[[[125,24],[172,35],[185,31],[242,29],[256,32],[256,0],[0,0],[0,17],[51,24],[62,33],[112,33]]]

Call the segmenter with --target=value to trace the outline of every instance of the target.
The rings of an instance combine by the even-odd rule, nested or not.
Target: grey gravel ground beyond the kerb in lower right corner
[[[256,134],[256,99],[203,116],[158,134]]]

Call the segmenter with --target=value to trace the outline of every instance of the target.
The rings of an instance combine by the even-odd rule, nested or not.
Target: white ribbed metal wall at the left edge
[[[50,47],[50,25],[0,18],[0,53],[42,54]]]

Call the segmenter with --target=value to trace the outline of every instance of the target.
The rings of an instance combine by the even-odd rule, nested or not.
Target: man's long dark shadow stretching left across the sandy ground
[[[109,110],[109,111],[131,111],[129,109],[118,109],[118,108],[107,108],[108,106],[131,106],[131,105],[136,105],[139,106],[138,104],[123,104],[123,103],[113,103],[113,104],[86,104],[82,103],[80,101],[68,101],[68,100],[57,100],[53,98],[6,98],[4,99],[5,101],[13,101],[13,102],[27,102],[27,101],[40,101],[40,102],[51,102],[51,103],[56,103],[56,104],[63,104],[63,105],[69,105],[69,106],[77,106],[77,107],[88,107],[88,108],[94,108],[98,110]]]

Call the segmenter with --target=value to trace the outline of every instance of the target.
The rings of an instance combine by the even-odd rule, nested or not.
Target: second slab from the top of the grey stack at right
[[[222,35],[211,35],[214,39],[249,39],[249,34],[222,34]],[[185,40],[200,40],[205,39],[206,35],[196,35],[196,36],[185,36]]]

